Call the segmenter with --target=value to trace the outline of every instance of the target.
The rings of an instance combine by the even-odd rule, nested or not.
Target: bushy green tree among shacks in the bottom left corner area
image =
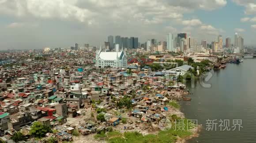
[[[34,122],[34,124],[31,126],[29,134],[36,138],[42,138],[45,137],[45,134],[48,132],[53,132],[50,127],[42,125],[40,122]]]

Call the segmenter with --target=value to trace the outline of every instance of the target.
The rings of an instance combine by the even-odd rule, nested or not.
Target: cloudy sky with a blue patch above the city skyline
[[[235,32],[256,45],[256,0],[0,0],[0,49],[99,45],[108,35],[209,42]]]

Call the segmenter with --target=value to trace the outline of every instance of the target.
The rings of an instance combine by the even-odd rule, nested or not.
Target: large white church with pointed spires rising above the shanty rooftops
[[[118,68],[126,68],[127,67],[127,56],[126,50],[123,49],[119,51],[119,48],[116,48],[116,52],[106,52],[102,51],[102,47],[100,46],[99,50],[96,50],[96,67],[118,67]]]

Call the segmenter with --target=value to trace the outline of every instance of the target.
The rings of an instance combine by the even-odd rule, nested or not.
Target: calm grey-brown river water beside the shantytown
[[[188,143],[256,143],[256,59],[227,64],[226,69],[211,72],[213,77],[207,82],[211,88],[204,88],[199,82],[194,88],[187,85],[192,100],[181,102],[186,118],[196,119],[203,125],[200,136]],[[230,131],[220,129],[221,119],[230,121],[226,125]],[[238,125],[232,131],[236,120],[242,121],[240,131]],[[207,131],[210,125],[213,131]]]

